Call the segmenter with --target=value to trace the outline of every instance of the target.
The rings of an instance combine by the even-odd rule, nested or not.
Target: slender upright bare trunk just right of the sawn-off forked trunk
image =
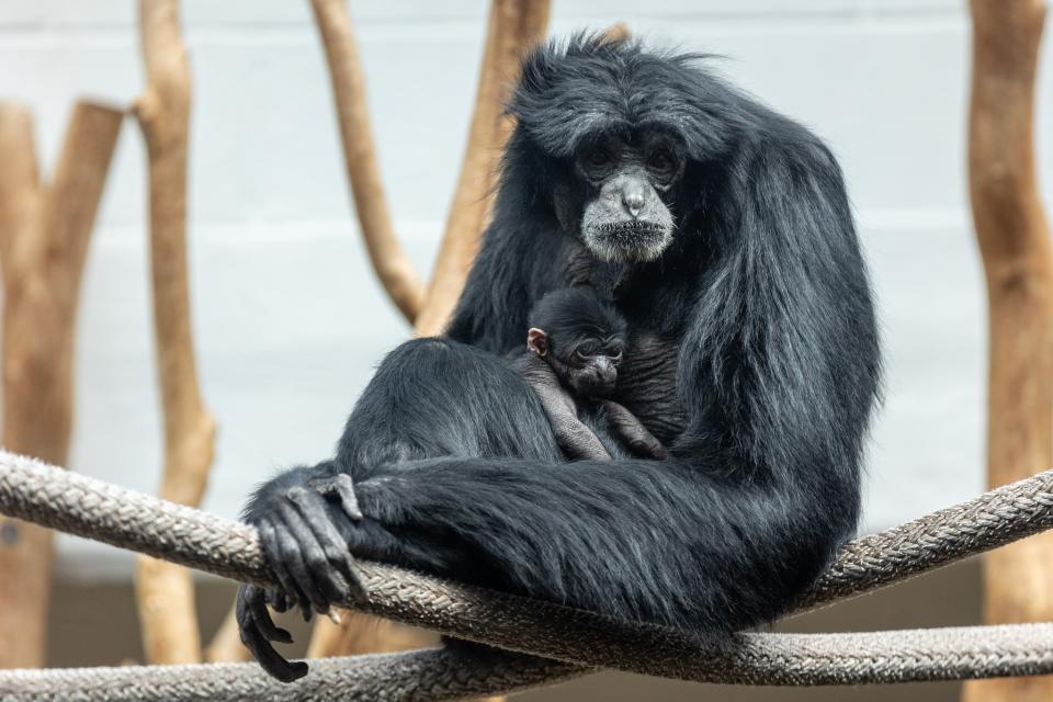
[[[178,0],[140,0],[139,31],[147,88],[135,113],[149,159],[154,321],[165,415],[160,495],[196,506],[212,464],[215,422],[197,385],[190,320],[186,144],[191,87]],[[136,597],[147,660],[179,664],[201,659],[189,570],[140,558]]]

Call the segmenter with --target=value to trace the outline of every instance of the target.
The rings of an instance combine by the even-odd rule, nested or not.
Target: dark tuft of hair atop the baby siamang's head
[[[544,295],[528,315],[532,328],[543,329],[555,343],[586,338],[624,337],[625,318],[593,288],[579,285]]]

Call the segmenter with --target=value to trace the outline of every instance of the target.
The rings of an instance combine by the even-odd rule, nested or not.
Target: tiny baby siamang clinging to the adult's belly
[[[610,461],[608,448],[579,419],[582,409],[602,414],[612,432],[633,453],[664,460],[666,448],[610,397],[625,349],[625,319],[591,287],[554,291],[528,317],[526,351],[511,363],[541,399],[556,441],[571,458]]]

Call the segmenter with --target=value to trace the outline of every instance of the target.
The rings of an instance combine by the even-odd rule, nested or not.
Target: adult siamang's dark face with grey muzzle
[[[577,219],[581,241],[601,260],[657,259],[672,242],[670,205],[683,176],[682,151],[654,129],[587,141],[574,156],[577,188],[556,195],[564,227],[573,230]]]

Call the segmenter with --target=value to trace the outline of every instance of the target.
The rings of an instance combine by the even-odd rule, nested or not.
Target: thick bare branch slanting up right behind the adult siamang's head
[[[490,217],[498,159],[512,127],[503,104],[523,54],[545,34],[548,4],[547,0],[492,0],[490,3],[486,49],[461,178],[424,306],[414,326],[417,336],[442,332],[461,296]]]

